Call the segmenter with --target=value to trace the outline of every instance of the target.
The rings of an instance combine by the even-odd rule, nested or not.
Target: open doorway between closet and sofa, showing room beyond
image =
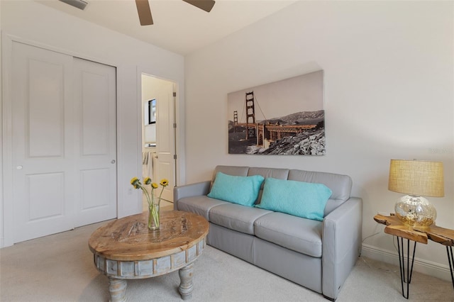
[[[162,192],[163,210],[172,209],[176,183],[175,98],[176,84],[141,74],[142,91],[142,176],[159,184],[167,179]],[[143,203],[144,211],[147,208]]]

